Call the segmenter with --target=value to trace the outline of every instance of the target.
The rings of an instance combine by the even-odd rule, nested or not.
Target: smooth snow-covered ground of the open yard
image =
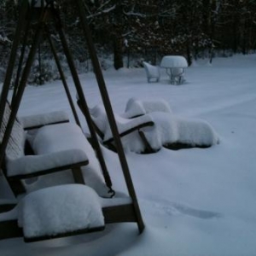
[[[108,225],[106,230],[52,241],[0,241],[0,255],[253,256],[256,253],[256,55],[198,61],[183,85],[147,83],[143,68],[104,73],[115,113],[131,97],[161,98],[181,118],[204,119],[220,143],[211,148],[155,154],[126,153],[146,228]],[[90,107],[100,103],[93,73],[80,76]],[[70,87],[75,98],[73,84]],[[66,110],[60,81],[28,86],[20,115]],[[83,119],[81,113],[79,117]],[[83,119],[84,121],[84,119]],[[86,128],[84,128],[86,130]],[[125,191],[116,154],[103,148],[113,187]]]

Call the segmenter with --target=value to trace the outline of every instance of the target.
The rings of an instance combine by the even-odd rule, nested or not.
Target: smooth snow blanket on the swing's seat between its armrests
[[[95,151],[78,125],[64,123],[44,126],[38,129],[30,143],[36,154],[56,154],[60,151],[65,152],[65,150],[73,150],[73,154],[77,154],[77,150],[84,151],[89,160],[89,165],[81,168],[85,183],[95,189],[98,195],[109,196],[109,189],[104,182],[101,166],[96,158]],[[77,156],[71,154],[70,158],[75,159]],[[59,162],[61,162],[61,159]],[[60,175],[62,174],[61,172]],[[46,179],[51,177],[53,177],[52,174],[49,178],[40,177],[40,179],[42,181],[44,179],[47,183]]]

